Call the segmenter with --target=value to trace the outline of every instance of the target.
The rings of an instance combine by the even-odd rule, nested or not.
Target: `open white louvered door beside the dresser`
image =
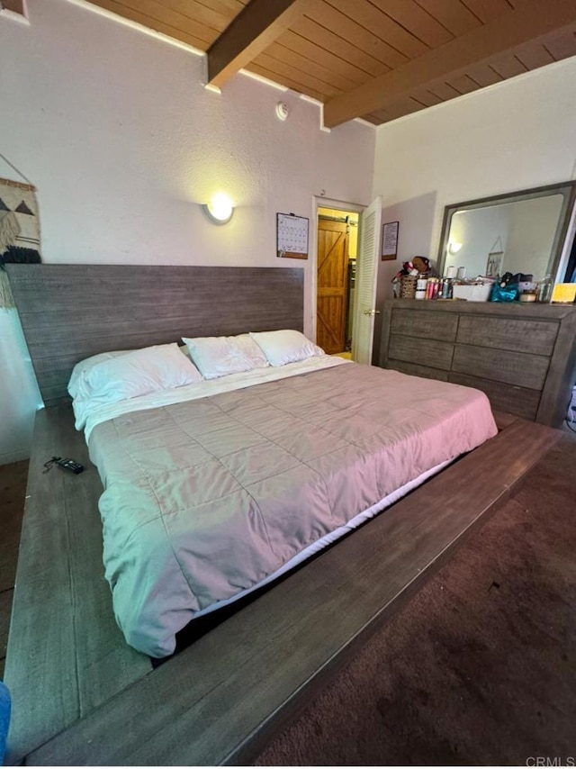
[[[352,340],[352,357],[356,363],[372,363],[381,227],[382,197],[378,195],[360,214],[356,259],[356,318]]]

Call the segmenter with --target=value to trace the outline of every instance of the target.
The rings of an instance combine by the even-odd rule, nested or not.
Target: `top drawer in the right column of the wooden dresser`
[[[555,321],[462,315],[456,341],[480,347],[552,355],[559,325]]]

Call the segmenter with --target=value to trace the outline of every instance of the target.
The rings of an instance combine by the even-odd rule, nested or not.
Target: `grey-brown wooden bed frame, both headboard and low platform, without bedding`
[[[508,498],[560,433],[517,418],[165,664],[128,647],[103,577],[97,472],[72,366],[185,336],[302,330],[303,271],[8,265],[40,392],[5,681],[8,761],[239,764]],[[53,456],[85,465],[82,475]]]

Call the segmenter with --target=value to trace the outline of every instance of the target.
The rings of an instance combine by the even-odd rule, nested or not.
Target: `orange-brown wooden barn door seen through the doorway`
[[[331,355],[346,348],[348,225],[319,219],[316,341]]]

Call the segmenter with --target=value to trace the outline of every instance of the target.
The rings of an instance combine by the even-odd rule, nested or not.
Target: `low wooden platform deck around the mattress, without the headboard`
[[[40,412],[6,666],[14,701],[9,760],[250,761],[560,437],[504,415],[500,427],[494,439],[151,670],[113,622],[94,468],[41,474],[54,454],[87,463],[82,436],[67,409]]]

